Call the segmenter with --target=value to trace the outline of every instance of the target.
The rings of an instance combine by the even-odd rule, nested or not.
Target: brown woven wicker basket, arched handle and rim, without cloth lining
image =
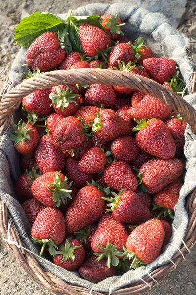
[[[160,84],[156,83],[151,79],[147,79],[140,75],[132,75],[128,72],[103,70],[103,69],[77,69],[77,70],[59,70],[44,73],[42,75],[35,76],[29,80],[23,81],[20,85],[16,86],[9,93],[4,93],[0,103],[0,134],[2,135],[10,125],[12,108],[19,102],[22,97],[32,93],[33,91],[40,88],[47,88],[51,86],[68,84],[68,83],[79,83],[79,84],[91,84],[91,83],[104,83],[109,85],[118,85],[131,87],[136,90],[153,95],[159,98],[164,103],[170,105],[173,110],[181,113],[182,117],[189,123],[191,129],[196,133],[196,113],[194,108],[184,101],[176,93],[164,88]],[[190,83],[189,93],[196,91],[196,74],[193,75],[192,82]],[[191,249],[196,243],[196,189],[187,197],[186,209],[189,216],[189,225],[185,237],[186,246]],[[0,228],[3,237],[7,239],[8,231],[8,220],[9,213],[5,204],[0,201]],[[12,240],[17,241],[20,245],[23,245],[20,236],[18,235],[13,224],[10,229],[10,236]],[[90,290],[72,286],[65,283],[50,272],[44,270],[38,262],[35,260],[33,254],[26,252],[21,248],[9,245],[12,252],[16,256],[20,265],[23,267],[25,272],[38,284],[42,284],[46,289],[56,294],[65,295],[90,295]],[[183,245],[181,252],[186,255],[187,248]],[[183,257],[181,252],[177,252],[173,257],[172,261],[178,266],[182,261]],[[163,280],[175,266],[172,263],[158,267],[151,276],[158,282]],[[147,276],[144,280],[151,286],[155,286],[156,282]],[[126,288],[114,291],[111,295],[133,295],[140,294],[147,291],[149,286],[142,281],[127,286]],[[93,291],[91,293],[97,295],[103,295]]]

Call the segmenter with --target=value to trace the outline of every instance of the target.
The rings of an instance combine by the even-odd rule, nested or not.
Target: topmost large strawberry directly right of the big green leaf
[[[111,45],[110,37],[102,29],[90,24],[80,25],[79,37],[82,49],[90,57]]]

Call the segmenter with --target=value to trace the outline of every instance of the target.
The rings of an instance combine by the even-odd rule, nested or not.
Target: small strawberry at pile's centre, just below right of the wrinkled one
[[[110,155],[111,153],[109,153]],[[84,173],[99,173],[107,164],[107,154],[99,147],[90,148],[78,163],[78,169]]]

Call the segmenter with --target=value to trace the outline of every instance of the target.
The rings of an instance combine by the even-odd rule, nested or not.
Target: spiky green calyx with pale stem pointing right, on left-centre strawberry
[[[52,199],[56,203],[54,206],[57,208],[61,205],[61,202],[64,205],[66,205],[67,198],[72,199],[70,195],[70,193],[72,192],[72,190],[70,190],[70,187],[72,186],[72,182],[65,187],[65,185],[67,184],[68,178],[65,176],[64,181],[61,182],[61,177],[59,173],[60,171],[56,171],[54,182],[47,185],[49,191],[53,193]],[[54,186],[54,188],[51,188],[51,186]]]

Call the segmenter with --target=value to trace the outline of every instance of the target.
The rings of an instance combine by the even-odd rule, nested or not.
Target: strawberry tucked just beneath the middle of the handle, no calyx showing
[[[98,104],[103,107],[112,107],[116,101],[116,94],[110,85],[105,84],[91,84],[87,89],[85,102],[88,104]]]

